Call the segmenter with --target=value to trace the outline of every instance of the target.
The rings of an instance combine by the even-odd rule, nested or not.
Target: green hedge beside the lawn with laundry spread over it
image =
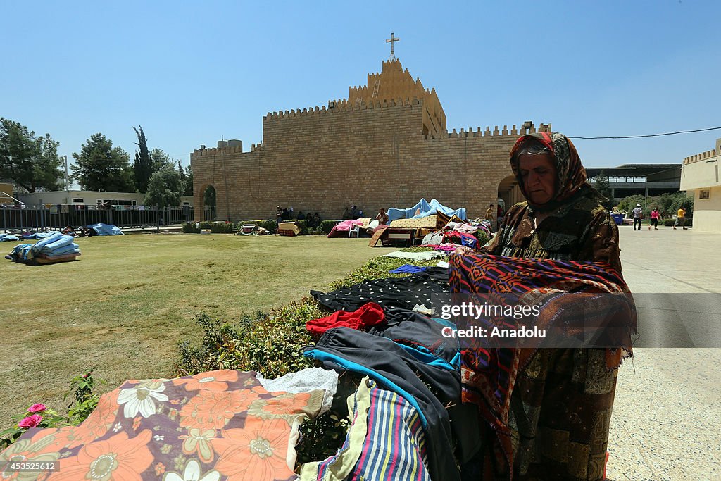
[[[412,251],[430,250],[413,247]],[[435,265],[436,260],[415,262],[416,265]],[[368,279],[401,277],[405,274],[389,274],[407,259],[376,257],[346,278],[332,283],[330,290],[350,286]],[[215,369],[258,371],[268,378],[283,376],[290,372],[311,367],[312,363],[301,356],[306,345],[314,340],[306,330],[306,322],[329,313],[322,311],[315,299],[306,297],[293,301],[270,312],[243,314],[236,322],[212,319],[199,314],[195,322],[203,328],[200,345],[187,340],[178,344],[180,359],[177,374],[187,376]],[[301,425],[302,441],[297,446],[298,463],[325,459],[342,444],[350,425],[345,398],[353,393],[360,381],[357,376],[340,376],[338,392],[333,407],[323,415]]]

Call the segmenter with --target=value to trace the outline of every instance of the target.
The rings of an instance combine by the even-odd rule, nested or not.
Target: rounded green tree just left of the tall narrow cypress
[[[133,168],[128,154],[112,141],[94,133],[81,146],[80,154],[73,152],[76,165],[73,177],[84,190],[105,192],[133,192]]]

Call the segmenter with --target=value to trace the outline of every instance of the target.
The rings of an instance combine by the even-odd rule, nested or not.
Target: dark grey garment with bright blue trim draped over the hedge
[[[385,389],[398,392],[396,387],[399,387],[410,394],[427,421],[425,446],[428,450],[430,478],[460,480],[453,454],[448,412],[441,404],[441,402],[460,403],[461,376],[458,372],[421,363],[386,337],[374,336],[348,327],[327,330],[317,345],[309,346],[304,352],[304,356],[316,359],[322,358],[323,354],[337,358],[337,361],[321,359],[327,369],[368,375]],[[371,370],[372,374],[355,369],[353,366],[363,366]],[[426,384],[433,389],[435,395]],[[412,400],[406,400],[413,404]]]

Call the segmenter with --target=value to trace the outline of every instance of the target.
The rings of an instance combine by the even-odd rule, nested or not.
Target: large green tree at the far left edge
[[[58,190],[63,177],[58,142],[50,137],[35,137],[25,125],[0,118],[0,178],[28,192]]]

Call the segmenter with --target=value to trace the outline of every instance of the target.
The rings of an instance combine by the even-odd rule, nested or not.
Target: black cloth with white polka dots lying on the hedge
[[[373,279],[350,287],[343,287],[329,293],[311,291],[320,305],[331,311],[355,311],[367,302],[376,302],[388,309],[400,308],[412,310],[416,304],[435,307],[435,312],[451,303],[448,288],[448,270],[446,282],[436,282],[437,271],[417,273],[404,278]]]

